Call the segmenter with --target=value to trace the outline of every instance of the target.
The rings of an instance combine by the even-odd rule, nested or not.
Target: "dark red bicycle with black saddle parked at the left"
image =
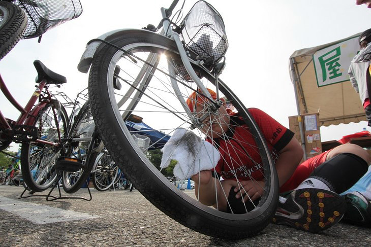
[[[23,180],[30,189],[43,191],[56,179],[55,160],[68,131],[66,110],[49,89],[60,87],[67,80],[39,60],[35,60],[34,65],[38,85],[24,108],[13,98],[0,76],[2,92],[20,112],[17,120],[7,119],[0,112],[0,150],[12,142],[21,143]]]

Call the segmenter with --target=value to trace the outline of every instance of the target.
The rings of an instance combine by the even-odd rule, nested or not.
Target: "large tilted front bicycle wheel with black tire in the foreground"
[[[203,234],[237,239],[255,235],[265,228],[276,208],[278,181],[265,140],[236,95],[222,81],[216,87],[214,77],[206,69],[194,64],[203,85],[218,92],[219,97],[224,97],[226,105],[229,105],[227,108],[234,112],[234,116],[239,116],[253,138],[250,144],[238,139],[226,141],[235,142],[234,145],[241,147],[250,146],[255,152],[254,156],[261,160],[256,163],[255,168],[260,168],[258,170],[265,182],[264,194],[259,202],[252,202],[254,208],[246,210],[244,214],[229,214],[219,210],[218,206],[214,208],[200,203],[193,192],[176,188],[165,177],[173,177],[173,174],[169,174],[171,170],[161,170],[156,161],[159,154],[152,150],[162,148],[166,138],[175,129],[192,130],[205,139],[205,134],[192,128],[192,121],[174,92],[177,91],[178,95],[187,99],[192,92],[198,90],[197,84],[191,82],[182,70],[175,44],[157,34],[140,31],[133,31],[131,35],[110,42],[128,53],[105,46],[96,54],[89,74],[89,97],[91,111],[103,142],[130,182],[166,215]],[[170,83],[174,79],[169,77],[171,70],[178,75],[176,80],[179,88],[176,90]],[[119,88],[116,80],[120,82],[121,90],[116,89]],[[144,131],[140,121],[125,122],[130,114],[142,117],[143,122],[151,129]],[[210,119],[215,124],[220,124],[219,119],[223,116],[218,111],[210,110],[209,114],[214,116]],[[142,139],[150,138],[148,147],[143,147],[143,142],[136,141],[138,134],[142,135]],[[217,143],[213,145],[220,148]],[[229,159],[236,156],[235,152],[237,151],[224,150],[223,155]],[[245,158],[250,158],[247,153]],[[230,175],[235,176],[237,167],[232,168],[231,172],[233,174]]]

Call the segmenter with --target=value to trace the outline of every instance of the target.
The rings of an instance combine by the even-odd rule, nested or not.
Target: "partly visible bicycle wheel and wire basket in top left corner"
[[[79,0],[1,0],[0,60],[21,39],[39,37],[61,23],[82,13]]]

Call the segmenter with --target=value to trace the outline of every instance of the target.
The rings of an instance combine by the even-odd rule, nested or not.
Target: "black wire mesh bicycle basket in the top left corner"
[[[27,28],[22,39],[40,37],[44,32],[82,13],[79,0],[15,0],[27,14]]]

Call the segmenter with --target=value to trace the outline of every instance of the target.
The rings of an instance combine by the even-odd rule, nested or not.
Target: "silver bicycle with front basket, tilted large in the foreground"
[[[210,236],[251,236],[266,227],[276,208],[279,186],[271,151],[250,113],[219,78],[228,47],[221,15],[208,3],[199,1],[179,21],[181,10],[172,15],[177,3],[175,0],[168,9],[161,8],[162,20],[157,26],[115,30],[88,43],[78,68],[84,73],[90,68],[88,88],[92,116],[113,160],[137,190],[165,214]],[[213,99],[206,88],[213,90],[217,99]],[[191,111],[185,102],[193,92],[205,98],[207,108],[201,116]],[[219,125],[223,119],[218,111],[221,105],[239,116],[241,124],[250,130],[253,138],[247,145],[251,145],[261,159],[256,165],[262,167],[264,194],[259,202],[252,202],[254,208],[246,209],[245,214],[225,213],[218,210],[218,203],[216,208],[206,206],[176,188],[143,152],[142,142],[135,138],[137,130],[127,128],[125,122],[135,114],[153,128],[149,131],[161,131],[164,137],[184,128],[205,139],[197,127],[203,126],[204,121]],[[233,146],[246,145],[244,140],[228,139],[232,131],[233,126],[218,134],[225,136],[227,142],[235,142]],[[217,133],[208,137],[211,139],[214,134]],[[156,147],[158,142],[151,142],[144,149],[160,148]],[[214,145],[220,148],[218,143]],[[231,160],[237,156],[235,152],[244,150],[224,150],[220,155],[224,160]],[[231,167],[229,177],[237,178],[235,172]],[[251,171],[245,172],[249,175]]]

